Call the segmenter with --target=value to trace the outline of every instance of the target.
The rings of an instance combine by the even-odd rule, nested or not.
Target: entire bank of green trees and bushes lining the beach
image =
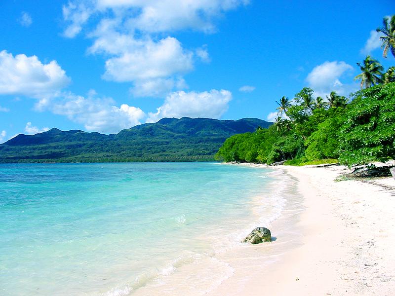
[[[268,129],[229,138],[217,157],[289,165],[339,159],[348,166],[395,158],[395,82],[358,91],[350,104],[335,92],[327,104],[312,96],[313,90],[302,89],[287,106],[289,120],[278,117]]]

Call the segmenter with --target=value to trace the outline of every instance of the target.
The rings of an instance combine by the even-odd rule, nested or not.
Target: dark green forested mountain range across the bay
[[[271,122],[258,118],[162,118],[116,135],[52,128],[18,135],[0,145],[0,162],[120,162],[213,160],[232,135],[253,132]]]

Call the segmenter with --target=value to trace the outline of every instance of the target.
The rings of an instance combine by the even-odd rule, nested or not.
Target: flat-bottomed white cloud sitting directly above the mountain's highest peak
[[[228,110],[232,93],[228,90],[207,92],[177,91],[169,94],[156,113],[149,113],[147,122],[155,122],[163,117],[209,117],[220,118]]]

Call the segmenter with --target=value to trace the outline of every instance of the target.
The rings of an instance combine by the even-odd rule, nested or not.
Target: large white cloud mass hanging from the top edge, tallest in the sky
[[[163,89],[194,69],[195,61],[210,61],[207,47],[184,48],[169,32],[215,31],[214,20],[247,0],[82,0],[63,6],[66,37],[75,37],[92,18],[96,27],[90,54],[106,57],[103,78],[132,82],[135,96],[160,96]],[[93,18],[94,16],[94,18]],[[158,36],[160,36],[158,38]],[[167,37],[166,37],[167,36]]]

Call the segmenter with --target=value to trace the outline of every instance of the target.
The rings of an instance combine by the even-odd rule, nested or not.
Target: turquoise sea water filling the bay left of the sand
[[[276,196],[256,206],[258,193],[275,188],[272,172],[217,163],[0,164],[0,295],[132,295],[239,244],[263,213],[274,219]]]

